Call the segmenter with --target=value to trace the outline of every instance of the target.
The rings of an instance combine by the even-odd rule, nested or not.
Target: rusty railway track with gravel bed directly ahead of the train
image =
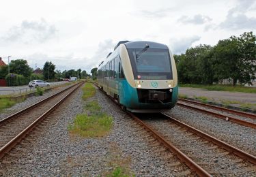
[[[167,114],[128,114],[199,176],[256,174],[256,157]]]

